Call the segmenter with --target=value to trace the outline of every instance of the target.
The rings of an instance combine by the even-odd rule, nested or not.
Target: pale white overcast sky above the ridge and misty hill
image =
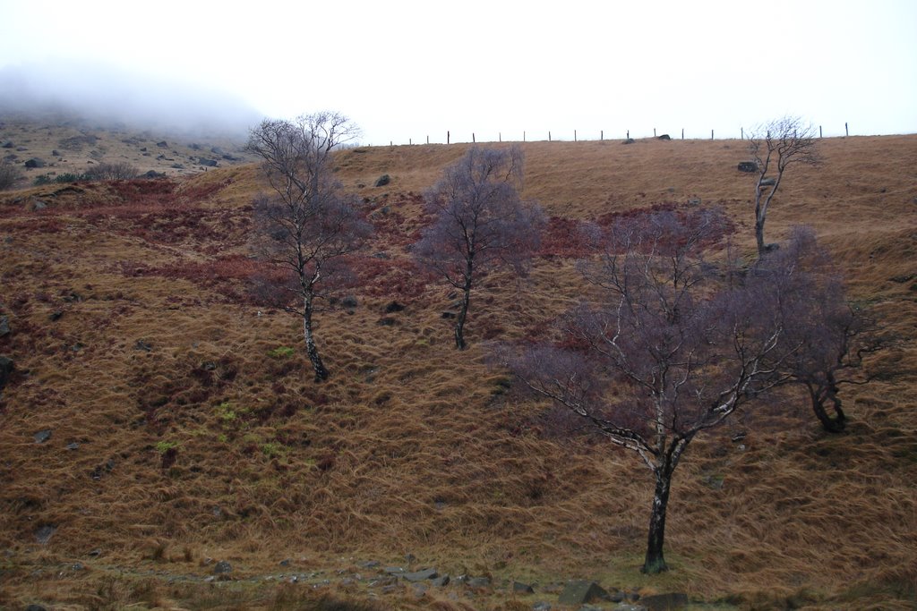
[[[917,133],[917,2],[0,0],[4,69],[51,90],[84,74],[91,105],[337,110],[367,144],[737,137],[787,114]]]

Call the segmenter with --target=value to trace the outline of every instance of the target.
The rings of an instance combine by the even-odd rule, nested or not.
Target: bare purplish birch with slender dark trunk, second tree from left
[[[462,291],[455,326],[459,350],[467,346],[464,329],[475,281],[501,265],[524,272],[539,244],[544,214],[520,198],[522,176],[520,147],[471,147],[425,194],[436,220],[414,245],[414,256]]]

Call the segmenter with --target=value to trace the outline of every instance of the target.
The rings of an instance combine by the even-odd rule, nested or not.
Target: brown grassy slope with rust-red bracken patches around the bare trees
[[[844,435],[790,393],[693,443],[669,506],[673,571],[654,578],[638,573],[646,467],[554,434],[546,405],[505,393],[482,344],[536,337],[575,301],[572,221],[700,199],[724,207],[750,255],[742,142],[525,145],[525,196],[553,217],[545,246],[530,278],[474,293],[461,354],[441,317],[455,297],[408,247],[420,193],[466,147],[341,152],[338,177],[377,231],[356,261],[357,307],[318,317],[321,385],[300,324],[247,292],[256,167],[0,194],[0,354],[16,363],[0,398],[0,607],[304,608],[331,594],[528,609],[590,578],[712,608],[912,608],[917,136],[821,147],[822,167],[790,170],[768,238],[811,224],[900,343],[874,364],[881,379],[845,389]],[[214,561],[231,580],[204,581]],[[370,561],[492,587],[418,595],[373,582]],[[514,595],[514,579],[536,595]]]

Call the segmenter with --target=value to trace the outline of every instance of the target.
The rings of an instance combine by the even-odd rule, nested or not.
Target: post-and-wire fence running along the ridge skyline
[[[423,138],[414,139],[409,137],[407,142],[404,141],[395,141],[390,140],[389,146],[414,146],[414,145],[423,145],[423,144],[478,144],[478,143],[501,143],[501,142],[595,142],[595,141],[621,141],[627,142],[629,140],[641,140],[646,138],[657,138],[662,140],[746,140],[750,130],[746,130],[745,127],[739,127],[738,132],[735,131],[735,128],[726,129],[718,132],[715,128],[712,128],[709,133],[705,131],[691,130],[686,132],[684,128],[681,128],[677,133],[663,132],[657,130],[656,127],[652,128],[652,136],[649,135],[649,130],[639,130],[631,131],[630,129],[625,129],[624,133],[621,132],[606,132],[603,129],[600,130],[572,130],[572,131],[538,131],[538,132],[528,132],[523,131],[522,133],[514,132],[497,132],[496,135],[492,132],[453,132],[447,130],[445,134],[439,134],[438,136],[425,136]],[[827,135],[823,130],[822,125],[818,125],[818,136],[819,137],[836,137],[836,136],[850,136],[850,127],[848,123],[844,124],[843,131],[829,131]],[[373,145],[369,145],[373,146]],[[379,146],[379,145],[375,145]]]

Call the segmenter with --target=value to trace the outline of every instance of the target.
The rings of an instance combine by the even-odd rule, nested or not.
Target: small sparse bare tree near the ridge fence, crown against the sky
[[[784,172],[793,165],[819,162],[815,134],[815,128],[804,124],[800,117],[784,116],[758,125],[748,136],[748,149],[757,164],[755,238],[758,258],[767,251],[764,224]]]

